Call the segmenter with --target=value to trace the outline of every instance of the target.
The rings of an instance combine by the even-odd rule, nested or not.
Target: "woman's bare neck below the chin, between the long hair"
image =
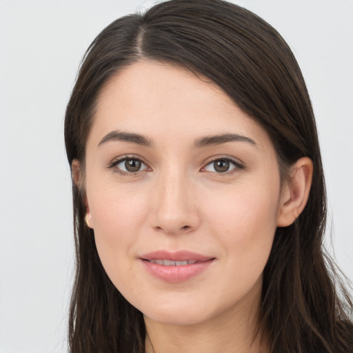
[[[258,327],[259,300],[236,303],[212,319],[192,325],[160,323],[145,317],[145,353],[268,353]]]

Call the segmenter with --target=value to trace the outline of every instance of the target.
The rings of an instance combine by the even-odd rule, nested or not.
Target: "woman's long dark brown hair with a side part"
[[[97,97],[117,71],[144,59],[179,65],[213,81],[267,130],[283,177],[301,157],[314,165],[307,205],[277,228],[263,272],[259,320],[271,352],[352,352],[352,301],[323,252],[326,197],[314,114],[290,48],[252,12],[221,0],[172,0],[117,19],[88,48],[65,115],[70,165],[85,160]],[[108,279],[85,226],[84,190],[73,183],[77,272],[71,353],[144,352],[143,315]]]

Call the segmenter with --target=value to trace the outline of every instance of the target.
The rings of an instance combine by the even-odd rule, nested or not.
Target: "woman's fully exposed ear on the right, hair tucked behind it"
[[[291,225],[304,210],[312,185],[312,169],[312,160],[307,157],[292,165],[290,180],[284,185],[281,194],[278,227]]]

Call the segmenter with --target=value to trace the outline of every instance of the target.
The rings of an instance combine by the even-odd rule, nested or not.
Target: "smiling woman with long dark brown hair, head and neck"
[[[352,351],[310,99],[268,23],[219,0],[114,21],[65,143],[71,352]]]

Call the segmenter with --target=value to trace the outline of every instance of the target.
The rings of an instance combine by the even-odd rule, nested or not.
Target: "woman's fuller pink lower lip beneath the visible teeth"
[[[178,283],[188,281],[198,274],[201,274],[207,270],[208,266],[211,265],[214,259],[179,266],[159,265],[158,263],[152,263],[142,259],[141,261],[143,262],[146,270],[158,279],[162,279],[165,282]]]

